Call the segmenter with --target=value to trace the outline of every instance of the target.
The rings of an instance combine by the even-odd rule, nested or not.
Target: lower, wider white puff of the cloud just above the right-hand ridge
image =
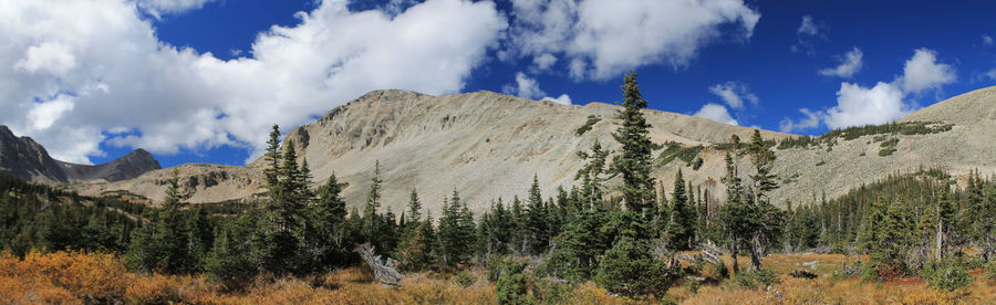
[[[827,109],[823,120],[830,128],[885,124],[913,112],[903,97],[899,86],[890,83],[880,82],[872,88],[841,83],[837,106]]]

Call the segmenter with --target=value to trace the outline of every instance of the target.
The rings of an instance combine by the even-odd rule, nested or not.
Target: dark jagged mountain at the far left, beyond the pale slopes
[[[45,148],[30,137],[17,137],[7,126],[0,125],[0,175],[46,183],[92,180],[114,182],[133,179],[159,168],[159,162],[152,154],[141,148],[95,166],[60,161],[49,156]]]

